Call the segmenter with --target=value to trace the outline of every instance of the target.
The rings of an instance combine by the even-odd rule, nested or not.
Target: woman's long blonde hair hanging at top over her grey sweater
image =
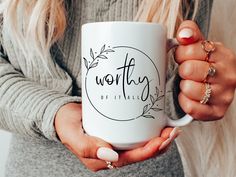
[[[9,37],[27,61],[40,58],[47,67],[51,46],[63,36],[66,28],[64,0],[2,0],[3,35]],[[197,7],[198,0],[195,1]],[[168,27],[172,37],[183,20],[182,4],[187,0],[143,0],[135,21],[158,22]],[[195,8],[196,12],[197,8]],[[37,57],[35,57],[35,55]]]

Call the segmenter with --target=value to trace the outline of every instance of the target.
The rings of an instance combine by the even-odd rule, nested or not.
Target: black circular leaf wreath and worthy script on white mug
[[[143,55],[145,55],[152,62],[153,66],[155,67],[155,69],[157,71],[158,83],[159,83],[159,86],[160,86],[159,71],[158,71],[156,65],[153,63],[153,61],[151,60],[151,58],[147,54],[145,54],[144,52],[142,52],[139,49],[136,49],[136,48],[133,48],[133,47],[129,47],[129,46],[116,46],[116,47],[112,47],[112,48],[110,46],[108,46],[108,48],[106,49],[106,44],[104,44],[101,47],[100,52],[94,52],[93,49],[90,48],[90,57],[91,57],[90,60],[87,60],[85,57],[83,57],[84,65],[85,65],[85,67],[87,69],[87,73],[86,73],[86,76],[85,76],[85,92],[87,94],[87,97],[88,97],[91,105],[94,107],[94,109],[98,113],[100,113],[104,117],[106,117],[106,118],[108,118],[110,120],[113,120],[113,121],[132,121],[132,120],[135,120],[135,119],[139,119],[141,117],[147,118],[147,119],[156,119],[157,117],[155,117],[153,115],[153,113],[154,112],[160,112],[160,111],[163,110],[162,108],[160,108],[158,106],[158,102],[161,101],[164,98],[164,95],[162,95],[160,93],[162,91],[159,91],[158,86],[155,87],[155,91],[154,91],[155,93],[154,94],[151,94],[149,92],[149,83],[151,82],[151,80],[149,80],[147,76],[145,76],[144,78],[139,77],[137,81],[132,80],[132,79],[129,78],[132,75],[133,70],[134,70],[135,59],[131,58],[131,60],[128,62],[127,61],[128,53],[126,54],[124,66],[118,67],[117,70],[120,70],[120,69],[126,70],[127,69],[127,73],[128,74],[125,75],[126,76],[125,78],[127,78],[127,85],[130,85],[130,84],[138,85],[138,84],[143,83],[144,81],[146,81],[147,84],[145,85],[145,88],[144,88],[144,91],[145,91],[145,89],[147,89],[147,91],[145,92],[146,94],[144,96],[144,91],[143,91],[140,98],[141,98],[142,101],[148,101],[149,99],[150,99],[150,101],[148,101],[148,104],[146,104],[143,107],[142,113],[140,115],[138,115],[138,116],[136,115],[135,117],[132,117],[132,118],[129,118],[129,119],[120,120],[120,119],[117,119],[117,118],[114,118],[114,117],[109,117],[109,116],[105,115],[103,112],[101,112],[100,110],[98,110],[96,108],[96,105],[94,105],[92,103],[92,101],[91,101],[91,99],[89,97],[89,94],[88,94],[88,90],[87,90],[88,72],[90,71],[90,69],[95,68],[95,67],[98,66],[99,59],[107,60],[108,59],[107,55],[109,53],[115,52],[116,49],[120,49],[120,48],[135,50],[135,51],[138,51],[138,52],[142,53]],[[101,85],[101,86],[103,86],[105,83],[108,84],[108,85],[112,85],[112,84],[118,85],[120,78],[121,78],[121,75],[118,75],[118,74],[116,76],[114,76],[114,77],[113,77],[112,74],[107,74],[103,78],[99,78],[98,76],[96,76],[95,82],[96,82],[97,85]],[[125,80],[125,79],[123,79],[123,80]],[[123,83],[123,86],[124,86],[124,83]],[[126,99],[126,94],[125,94],[124,88],[123,88],[123,96]]]

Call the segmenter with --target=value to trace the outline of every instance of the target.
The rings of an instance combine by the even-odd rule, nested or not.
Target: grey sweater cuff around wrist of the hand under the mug
[[[68,103],[81,103],[81,97],[72,97],[68,95],[57,95],[54,97],[54,99],[51,100],[50,103],[48,103],[42,120],[42,133],[43,135],[53,141],[59,142],[55,126],[54,126],[54,120],[57,111],[64,105]]]

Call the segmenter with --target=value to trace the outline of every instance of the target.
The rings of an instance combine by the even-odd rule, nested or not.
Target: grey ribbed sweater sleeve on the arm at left
[[[80,102],[26,78],[0,54],[0,128],[32,137],[57,141],[54,117],[70,102]]]

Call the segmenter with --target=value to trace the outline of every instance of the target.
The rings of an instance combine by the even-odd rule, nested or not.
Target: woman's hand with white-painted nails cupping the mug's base
[[[122,167],[154,157],[164,152],[180,133],[178,128],[165,128],[160,137],[145,146],[118,154],[107,142],[84,133],[81,104],[77,103],[69,103],[59,109],[55,129],[61,142],[92,171],[108,169],[106,161],[113,162],[115,167]]]

